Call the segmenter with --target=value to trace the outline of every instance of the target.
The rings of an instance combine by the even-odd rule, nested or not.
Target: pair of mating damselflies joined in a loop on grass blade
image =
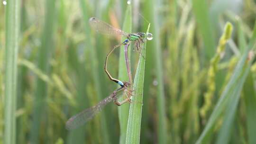
[[[130,101],[129,96],[127,97],[127,99],[119,102],[118,99],[118,93],[120,91],[124,91],[124,93],[126,94],[126,92],[128,92],[128,95],[131,95],[131,90],[128,90],[128,88],[131,85],[131,72],[129,69],[129,60],[128,60],[128,46],[130,45],[130,42],[134,41],[134,47],[137,49],[137,51],[141,50],[142,44],[145,41],[145,38],[147,38],[148,40],[152,40],[153,36],[150,33],[126,33],[118,28],[115,28],[111,25],[109,25],[108,23],[98,19],[98,18],[90,18],[89,19],[89,24],[90,26],[96,30],[97,32],[100,32],[102,34],[106,34],[106,35],[110,35],[110,36],[117,36],[117,35],[121,35],[121,36],[125,36],[126,39],[124,42],[114,46],[114,48],[107,54],[106,56],[106,60],[105,60],[105,66],[104,66],[104,70],[107,73],[108,77],[110,78],[111,81],[114,81],[116,83],[118,83],[121,88],[114,90],[112,94],[110,94],[110,96],[108,96],[107,98],[101,100],[101,102],[99,102],[97,105],[91,107],[91,108],[87,108],[85,110],[83,110],[82,112],[74,115],[73,117],[71,117],[67,122],[66,122],[66,128],[68,130],[77,128],[79,126],[82,126],[83,124],[85,124],[87,121],[91,120],[92,117],[95,116],[95,114],[97,114],[98,112],[101,111],[101,109],[106,106],[110,101],[114,101],[116,105],[120,106],[123,103],[126,103],[128,101]],[[128,75],[129,75],[129,81],[120,81],[118,79],[113,78],[110,73],[107,70],[107,64],[108,64],[108,57],[110,56],[110,54],[119,46],[121,45],[125,45],[125,60],[126,60],[126,66],[127,66],[127,71],[128,71]]]

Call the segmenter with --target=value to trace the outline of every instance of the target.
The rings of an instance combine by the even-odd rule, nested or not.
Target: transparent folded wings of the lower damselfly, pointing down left
[[[109,97],[101,100],[96,106],[87,108],[82,112],[69,118],[66,122],[66,129],[72,130],[84,125],[87,121],[91,120],[91,118],[99,113],[103,107],[105,107],[110,101],[113,101],[115,98],[117,98],[117,93],[113,92]]]

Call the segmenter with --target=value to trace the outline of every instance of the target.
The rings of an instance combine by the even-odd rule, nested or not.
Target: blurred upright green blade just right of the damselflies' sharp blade
[[[157,121],[157,140],[158,144],[167,143],[167,126],[166,126],[166,116],[165,116],[165,94],[164,94],[164,82],[163,82],[163,63],[162,63],[162,54],[161,54],[161,42],[160,42],[160,25],[158,16],[157,6],[159,3],[154,0],[147,0],[146,2],[147,9],[146,13],[147,19],[152,23],[152,34],[154,39],[151,42],[152,46],[149,49],[152,49],[152,61],[155,66],[155,75],[157,81],[157,97],[156,97],[156,108],[158,114]]]

